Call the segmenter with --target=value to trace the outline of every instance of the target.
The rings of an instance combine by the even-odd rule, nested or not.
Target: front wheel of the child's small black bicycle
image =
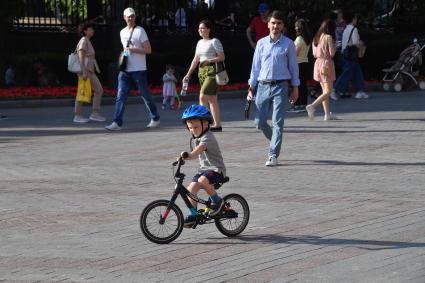
[[[183,213],[173,204],[167,211],[168,200],[148,204],[140,215],[140,229],[146,238],[157,244],[168,244],[183,230]]]

